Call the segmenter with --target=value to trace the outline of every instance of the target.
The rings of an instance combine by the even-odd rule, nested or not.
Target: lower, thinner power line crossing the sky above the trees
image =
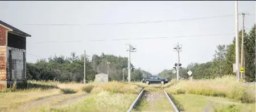
[[[158,39],[158,38],[180,38],[180,37],[201,37],[201,36],[224,36],[224,35],[234,35],[235,33],[228,34],[216,34],[216,35],[193,35],[193,36],[168,36],[168,37],[145,37],[145,38],[119,38],[119,39],[110,39],[110,40],[89,40],[92,41],[119,41],[119,40],[144,40],[144,39]],[[48,41],[48,42],[34,42],[34,43],[55,43],[55,42],[82,42],[82,41]]]

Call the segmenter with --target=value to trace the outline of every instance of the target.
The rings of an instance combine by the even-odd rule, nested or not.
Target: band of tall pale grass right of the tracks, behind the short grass
[[[247,86],[237,82],[236,77],[224,76],[216,79],[180,80],[165,90],[170,94],[200,94],[204,96],[227,97],[236,101],[255,102],[255,85]]]

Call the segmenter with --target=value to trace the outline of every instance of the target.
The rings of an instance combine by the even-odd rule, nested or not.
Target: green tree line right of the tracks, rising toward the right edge
[[[244,58],[245,58],[245,80],[255,81],[255,23],[249,32],[244,31]],[[241,40],[242,31],[239,32],[239,51],[241,62]],[[188,78],[187,72],[193,72],[193,79],[212,79],[224,75],[236,74],[233,72],[233,63],[236,63],[236,40],[228,45],[218,45],[212,61],[205,63],[191,63],[180,70],[180,78]],[[174,79],[174,70],[163,70],[158,75],[167,79]]]

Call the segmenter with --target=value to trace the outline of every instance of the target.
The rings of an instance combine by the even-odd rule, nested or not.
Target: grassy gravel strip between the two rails
[[[174,111],[174,109],[163,92],[145,91],[133,111]]]

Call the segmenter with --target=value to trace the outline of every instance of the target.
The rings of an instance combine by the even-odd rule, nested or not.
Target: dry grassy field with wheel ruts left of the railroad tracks
[[[137,85],[136,85],[137,84]],[[100,83],[58,83],[28,81],[27,89],[8,89],[1,92],[0,110],[3,111],[126,111],[142,90],[142,83],[112,81]],[[71,104],[61,104],[84,96]],[[51,98],[53,97],[53,98]],[[37,104],[40,99],[49,98]],[[7,102],[8,101],[8,102]],[[37,105],[20,109],[24,104]],[[61,105],[60,105],[61,104]]]

